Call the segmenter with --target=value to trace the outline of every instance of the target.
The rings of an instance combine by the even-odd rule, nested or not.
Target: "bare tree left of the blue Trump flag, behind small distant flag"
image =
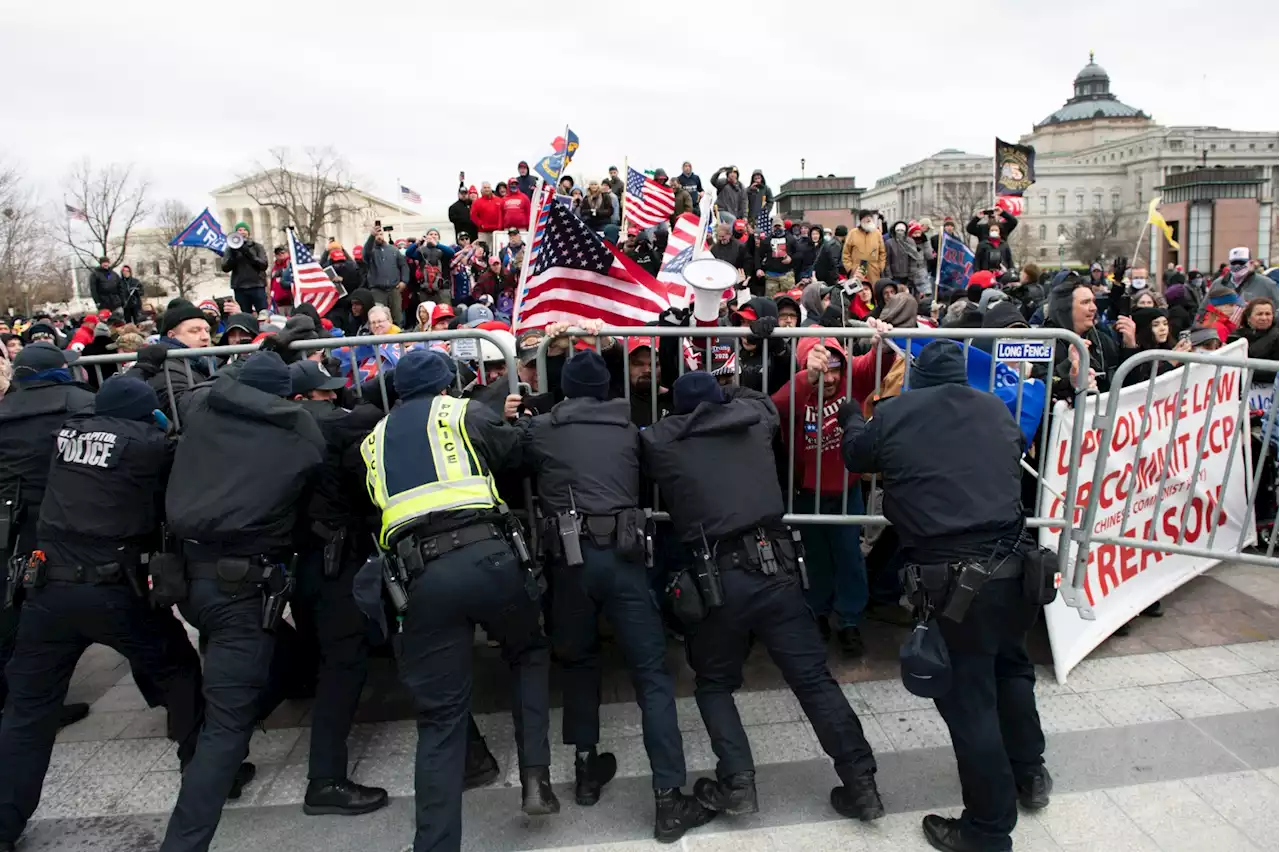
[[[146,179],[134,175],[132,165],[113,164],[95,169],[86,157],[68,173],[63,183],[64,203],[84,214],[84,221],[59,210],[63,242],[72,247],[86,267],[106,257],[115,267],[129,248],[129,234],[147,215]]]

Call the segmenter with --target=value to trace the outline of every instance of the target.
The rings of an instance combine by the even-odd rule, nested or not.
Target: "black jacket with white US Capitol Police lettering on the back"
[[[173,450],[150,421],[84,413],[63,423],[40,507],[50,564],[133,564],[152,550]]]

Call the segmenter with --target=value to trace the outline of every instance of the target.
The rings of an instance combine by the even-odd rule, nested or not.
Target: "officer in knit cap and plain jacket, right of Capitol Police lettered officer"
[[[161,852],[205,852],[266,718],[271,633],[293,578],[288,563],[307,487],[324,463],[315,420],[293,403],[274,352],[244,361],[179,399],[183,438],[165,495],[188,581],[183,617],[207,642],[205,723],[183,775]]]

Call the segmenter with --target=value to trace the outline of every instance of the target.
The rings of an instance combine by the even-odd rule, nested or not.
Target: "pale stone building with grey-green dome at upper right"
[[[995,137],[1001,128],[992,125],[991,132]],[[1023,196],[1023,216],[1010,241],[1019,264],[1087,264],[1094,258],[1076,257],[1082,253],[1076,246],[1089,241],[1075,237],[1091,229],[1100,233],[1091,246],[1098,248],[1093,253],[1130,256],[1151,200],[1188,194],[1181,187],[1192,180],[1187,173],[1204,169],[1251,175],[1243,183],[1233,177],[1226,203],[1215,201],[1224,214],[1231,207],[1230,215],[1197,214],[1194,205],[1169,210],[1166,219],[1179,234],[1194,233],[1194,239],[1175,237],[1181,251],[1156,246],[1151,255],[1143,238],[1139,260],[1203,270],[1226,262],[1235,246],[1247,246],[1254,257],[1271,264],[1280,255],[1275,216],[1280,134],[1275,132],[1157,124],[1111,92],[1111,77],[1089,54],[1073,81],[1071,97],[1019,142],[1036,147],[1036,183]],[[993,169],[988,152],[947,148],[881,178],[861,203],[881,210],[888,221],[928,216],[937,225],[951,216],[963,228],[975,210],[991,206]],[[1193,183],[1224,182],[1196,178]]]

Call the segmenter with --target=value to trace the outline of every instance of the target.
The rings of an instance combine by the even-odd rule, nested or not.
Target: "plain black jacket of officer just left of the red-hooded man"
[[[786,510],[773,475],[778,411],[758,390],[723,390],[723,404],[701,403],[640,432],[641,469],[687,545],[774,523]]]

